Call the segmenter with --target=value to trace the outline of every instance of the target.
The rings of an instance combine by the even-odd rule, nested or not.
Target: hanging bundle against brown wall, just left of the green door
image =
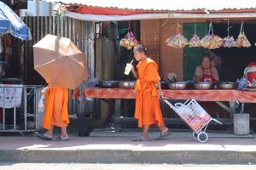
[[[184,48],[189,42],[181,34],[175,34],[174,36],[168,37],[166,39],[167,46],[172,48]]]

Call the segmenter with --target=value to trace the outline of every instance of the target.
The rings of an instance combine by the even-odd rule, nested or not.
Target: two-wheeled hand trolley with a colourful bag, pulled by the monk
[[[208,124],[211,121],[218,122],[218,120],[212,118],[195,99],[188,99],[185,103],[176,103],[175,105],[172,105],[167,99],[162,98],[162,100],[193,130],[192,136],[194,139],[207,142],[206,130]],[[222,124],[222,122],[218,123]]]

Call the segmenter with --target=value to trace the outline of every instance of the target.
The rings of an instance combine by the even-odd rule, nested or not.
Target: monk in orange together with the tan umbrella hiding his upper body
[[[46,140],[67,140],[68,88],[75,89],[88,78],[86,56],[68,38],[47,35],[33,46],[34,69],[44,77],[46,133],[36,133]],[[53,138],[54,126],[61,127],[61,135]]]

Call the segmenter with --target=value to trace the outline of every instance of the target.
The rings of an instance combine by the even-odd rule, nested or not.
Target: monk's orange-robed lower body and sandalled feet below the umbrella
[[[36,135],[46,140],[68,140],[68,89],[48,87],[44,89],[43,94],[45,99],[43,127],[48,131]],[[53,138],[54,126],[61,127],[61,135],[55,138]]]

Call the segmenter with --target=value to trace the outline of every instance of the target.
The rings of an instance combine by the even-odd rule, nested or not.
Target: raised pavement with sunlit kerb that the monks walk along
[[[166,140],[132,142],[140,132],[95,131],[90,137],[45,141],[33,136],[0,137],[0,161],[48,163],[256,164],[256,139],[231,133],[208,133],[200,143],[190,132]],[[158,136],[152,132],[150,136]],[[256,169],[256,168],[255,168]]]

